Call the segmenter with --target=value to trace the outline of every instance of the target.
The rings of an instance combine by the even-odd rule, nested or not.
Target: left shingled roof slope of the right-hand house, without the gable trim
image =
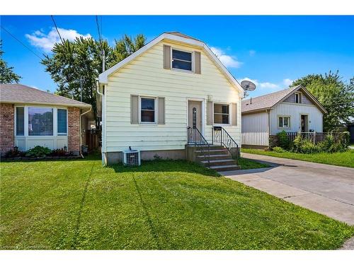
[[[280,100],[290,95],[293,91],[297,90],[301,86],[293,86],[292,88],[287,88],[285,90],[280,90],[274,93],[270,93],[267,95],[261,95],[256,98],[252,98],[249,100],[242,100],[242,112],[251,112],[256,110],[264,110],[273,107],[277,104]]]

